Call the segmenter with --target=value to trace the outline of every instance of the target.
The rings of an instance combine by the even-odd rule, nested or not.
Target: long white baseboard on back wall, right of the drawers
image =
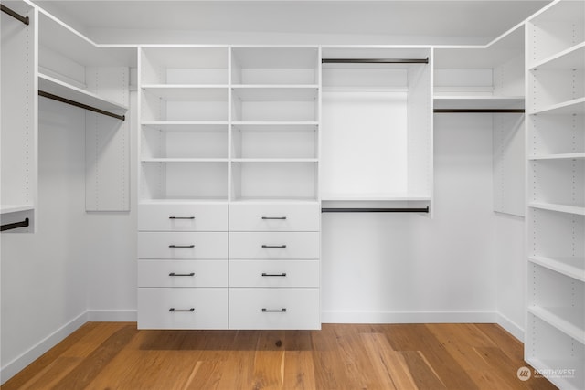
[[[497,323],[496,311],[323,311],[323,323]]]

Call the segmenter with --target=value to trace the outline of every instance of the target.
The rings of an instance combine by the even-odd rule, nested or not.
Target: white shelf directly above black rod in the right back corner
[[[435,109],[523,109],[523,96],[435,95]]]

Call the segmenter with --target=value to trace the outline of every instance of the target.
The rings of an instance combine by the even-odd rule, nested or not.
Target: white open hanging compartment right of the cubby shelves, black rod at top
[[[322,56],[324,206],[430,206],[431,49],[323,47]]]

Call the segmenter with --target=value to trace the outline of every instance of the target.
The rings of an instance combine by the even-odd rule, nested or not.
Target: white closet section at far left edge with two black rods
[[[37,12],[3,1],[2,13],[2,231],[33,232],[37,209]]]

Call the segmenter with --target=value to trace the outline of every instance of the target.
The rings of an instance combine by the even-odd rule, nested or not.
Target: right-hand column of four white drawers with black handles
[[[229,328],[319,329],[318,204],[229,207]]]

